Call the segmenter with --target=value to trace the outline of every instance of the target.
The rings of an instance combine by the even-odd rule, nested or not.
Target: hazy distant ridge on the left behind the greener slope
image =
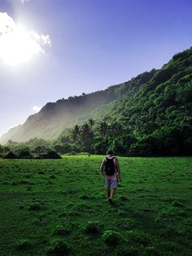
[[[48,102],[39,113],[31,115],[24,125],[10,129],[4,134],[0,143],[7,143],[8,140],[25,142],[32,137],[58,137],[66,127],[90,117],[95,108],[112,102],[115,99],[115,88],[116,86],[88,95],[82,93],[82,96],[70,96],[68,99]]]

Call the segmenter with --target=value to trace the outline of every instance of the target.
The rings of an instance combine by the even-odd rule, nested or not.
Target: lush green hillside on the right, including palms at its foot
[[[191,155],[191,59],[188,49],[160,70],[114,86],[116,100],[99,108],[97,119],[68,130],[71,143],[92,154]]]

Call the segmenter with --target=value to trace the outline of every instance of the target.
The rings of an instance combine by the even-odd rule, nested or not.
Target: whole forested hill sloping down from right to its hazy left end
[[[120,154],[146,151],[146,147],[157,154],[162,150],[188,154],[192,145],[191,113],[192,48],[174,55],[161,69],[142,73],[126,83],[48,103],[0,142],[58,137],[66,127],[81,126],[93,118],[92,141],[87,141],[91,148],[84,148],[89,151],[103,151],[110,145]],[[80,141],[71,143],[82,147]]]

